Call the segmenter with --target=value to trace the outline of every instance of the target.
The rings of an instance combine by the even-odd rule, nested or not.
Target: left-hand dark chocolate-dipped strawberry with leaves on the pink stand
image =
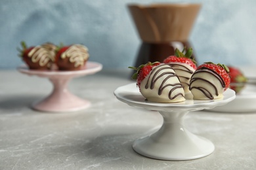
[[[24,41],[21,42],[22,49],[18,49],[20,57],[30,69],[51,69],[54,63],[54,54],[43,46],[27,47]]]

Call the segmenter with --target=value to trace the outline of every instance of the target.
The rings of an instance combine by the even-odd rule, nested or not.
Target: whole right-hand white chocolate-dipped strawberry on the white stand
[[[226,65],[203,63],[193,73],[190,91],[194,99],[218,99],[230,85],[229,69]]]

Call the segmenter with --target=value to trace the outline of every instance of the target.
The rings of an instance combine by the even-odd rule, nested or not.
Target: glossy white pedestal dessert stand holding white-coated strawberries
[[[211,109],[232,101],[236,95],[233,90],[226,90],[223,99],[192,100],[181,103],[154,103],[145,101],[136,84],[127,84],[114,92],[117,99],[134,107],[158,110],[163,116],[161,128],[133,143],[133,149],[139,154],[158,160],[194,160],[213,152],[211,141],[190,133],[183,126],[184,116],[190,111]]]

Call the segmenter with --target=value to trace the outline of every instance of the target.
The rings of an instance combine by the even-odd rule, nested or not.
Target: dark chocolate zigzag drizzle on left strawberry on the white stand
[[[162,67],[164,65],[164,67]],[[158,67],[161,67],[160,69],[158,69]],[[158,70],[157,70],[158,69]],[[173,70],[173,72],[171,71],[165,71],[164,73],[161,73],[161,75],[158,75],[158,73],[160,73],[160,71],[164,70],[164,69],[171,69]],[[182,93],[177,93],[177,95],[171,97],[171,93],[173,91],[175,91],[177,88],[183,88],[182,84],[179,82],[179,83],[175,83],[175,84],[165,84],[165,82],[175,76],[178,78],[179,80],[179,76],[175,73],[174,69],[171,68],[171,65],[170,64],[160,64],[156,67],[154,67],[154,69],[152,69],[152,71],[150,72],[150,75],[149,75],[149,78],[146,82],[146,85],[145,85],[145,88],[148,89],[148,84],[149,84],[149,79],[150,79],[150,76],[153,76],[152,79],[151,79],[151,82],[150,82],[150,89],[152,90],[156,84],[156,81],[161,78],[161,76],[164,76],[164,75],[168,75],[164,80],[163,82],[161,82],[161,86],[160,88],[158,89],[158,95],[161,95],[161,93],[163,92],[163,90],[165,88],[167,88],[168,86],[174,86],[174,88],[172,88],[169,92],[169,99],[175,99],[176,97],[178,97],[179,95],[182,95],[182,97],[184,97],[184,95]]]

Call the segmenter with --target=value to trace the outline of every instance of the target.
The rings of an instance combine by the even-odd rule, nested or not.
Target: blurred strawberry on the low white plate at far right
[[[240,69],[236,67],[228,66],[228,69],[230,71],[230,88],[236,93],[241,92],[245,86],[245,83],[247,82],[247,78],[240,71]]]

